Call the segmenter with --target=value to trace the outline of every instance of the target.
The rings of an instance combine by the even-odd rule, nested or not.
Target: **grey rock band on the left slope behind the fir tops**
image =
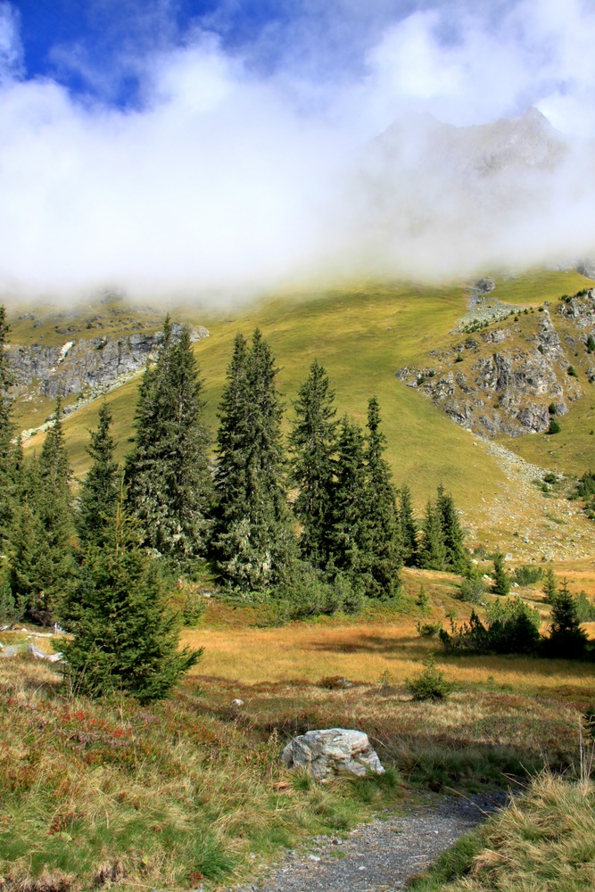
[[[174,337],[179,335],[181,327],[178,323],[172,325]],[[193,342],[204,337],[209,337],[206,328],[191,330]],[[17,395],[31,392],[33,386],[51,399],[59,392],[62,396],[95,392],[120,376],[143,368],[147,359],[156,356],[161,339],[161,332],[157,332],[112,340],[67,341],[62,347],[12,345],[8,356],[16,377],[14,392]]]

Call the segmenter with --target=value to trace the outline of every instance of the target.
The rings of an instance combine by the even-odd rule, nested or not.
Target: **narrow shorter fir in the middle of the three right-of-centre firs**
[[[335,467],[331,563],[358,582],[368,544],[366,463],[361,428],[346,415],[339,425]]]

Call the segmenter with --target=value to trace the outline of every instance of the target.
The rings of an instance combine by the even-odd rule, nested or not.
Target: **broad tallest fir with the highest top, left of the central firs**
[[[189,328],[182,326],[174,337],[168,316],[157,360],[145,370],[138,391],[135,445],[125,478],[128,507],[145,547],[174,566],[190,566],[206,552],[211,474],[202,409]]]

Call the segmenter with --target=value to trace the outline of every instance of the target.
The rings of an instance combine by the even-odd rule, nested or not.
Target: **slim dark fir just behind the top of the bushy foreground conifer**
[[[92,458],[86,479],[80,487],[77,530],[81,542],[93,540],[101,545],[106,528],[118,506],[120,467],[114,459],[116,444],[110,434],[112,410],[106,402],[99,409],[96,431],[91,431],[87,453]]]

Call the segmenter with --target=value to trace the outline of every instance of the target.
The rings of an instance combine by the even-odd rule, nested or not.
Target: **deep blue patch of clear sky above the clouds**
[[[125,106],[141,94],[139,56],[184,46],[197,30],[219,37],[260,73],[284,66],[314,80],[363,70],[389,23],[433,4],[416,0],[18,0],[25,75]],[[435,4],[434,4],[435,5]],[[442,4],[442,6],[448,4]],[[490,4],[493,10],[501,4]],[[463,4],[450,4],[453,11]],[[489,12],[489,10],[488,10]],[[443,29],[456,32],[453,12]],[[109,76],[108,76],[109,75]]]

